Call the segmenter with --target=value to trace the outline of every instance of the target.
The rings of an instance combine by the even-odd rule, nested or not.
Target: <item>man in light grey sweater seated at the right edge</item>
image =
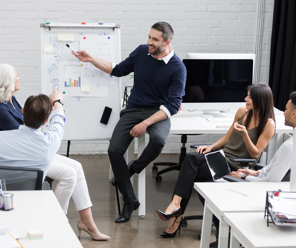
[[[286,104],[285,125],[296,127],[296,91],[289,96]],[[249,182],[280,182],[287,171],[291,169],[293,136],[286,140],[271,159],[269,165],[261,170],[239,169],[232,171],[231,176],[245,179]],[[246,174],[246,175],[245,175]]]

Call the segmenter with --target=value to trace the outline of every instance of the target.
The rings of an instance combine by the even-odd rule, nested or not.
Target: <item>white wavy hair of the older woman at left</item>
[[[15,69],[10,64],[0,64],[0,103],[6,103],[15,90]]]

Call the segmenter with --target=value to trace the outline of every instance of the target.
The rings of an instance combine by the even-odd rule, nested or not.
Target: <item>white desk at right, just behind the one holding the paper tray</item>
[[[266,191],[278,189],[289,191],[289,185],[289,182],[194,183],[194,188],[205,199],[200,247],[209,247],[213,214],[220,220],[218,247],[226,248],[229,226],[224,214],[264,212]]]

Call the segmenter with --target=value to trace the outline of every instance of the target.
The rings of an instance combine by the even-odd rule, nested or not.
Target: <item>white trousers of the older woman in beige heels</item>
[[[71,196],[77,211],[92,206],[82,165],[76,160],[56,154],[46,176],[58,182],[54,194],[65,214]]]

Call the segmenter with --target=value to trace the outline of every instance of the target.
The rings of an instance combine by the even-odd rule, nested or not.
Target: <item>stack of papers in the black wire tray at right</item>
[[[277,196],[268,196],[268,212],[274,224],[296,226],[296,193],[280,192]]]

